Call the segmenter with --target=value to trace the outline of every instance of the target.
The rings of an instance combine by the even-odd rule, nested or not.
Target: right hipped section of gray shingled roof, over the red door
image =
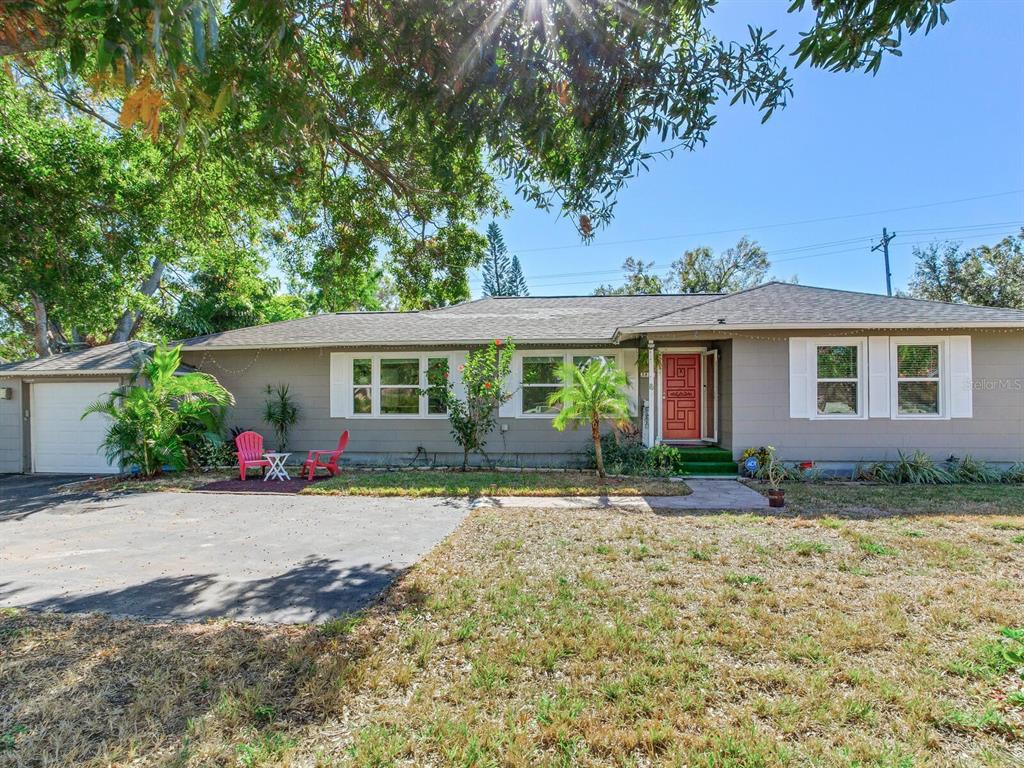
[[[728,328],[1024,328],[1024,311],[946,304],[895,296],[768,283],[748,291],[709,299],[635,326],[622,335],[656,331]]]

